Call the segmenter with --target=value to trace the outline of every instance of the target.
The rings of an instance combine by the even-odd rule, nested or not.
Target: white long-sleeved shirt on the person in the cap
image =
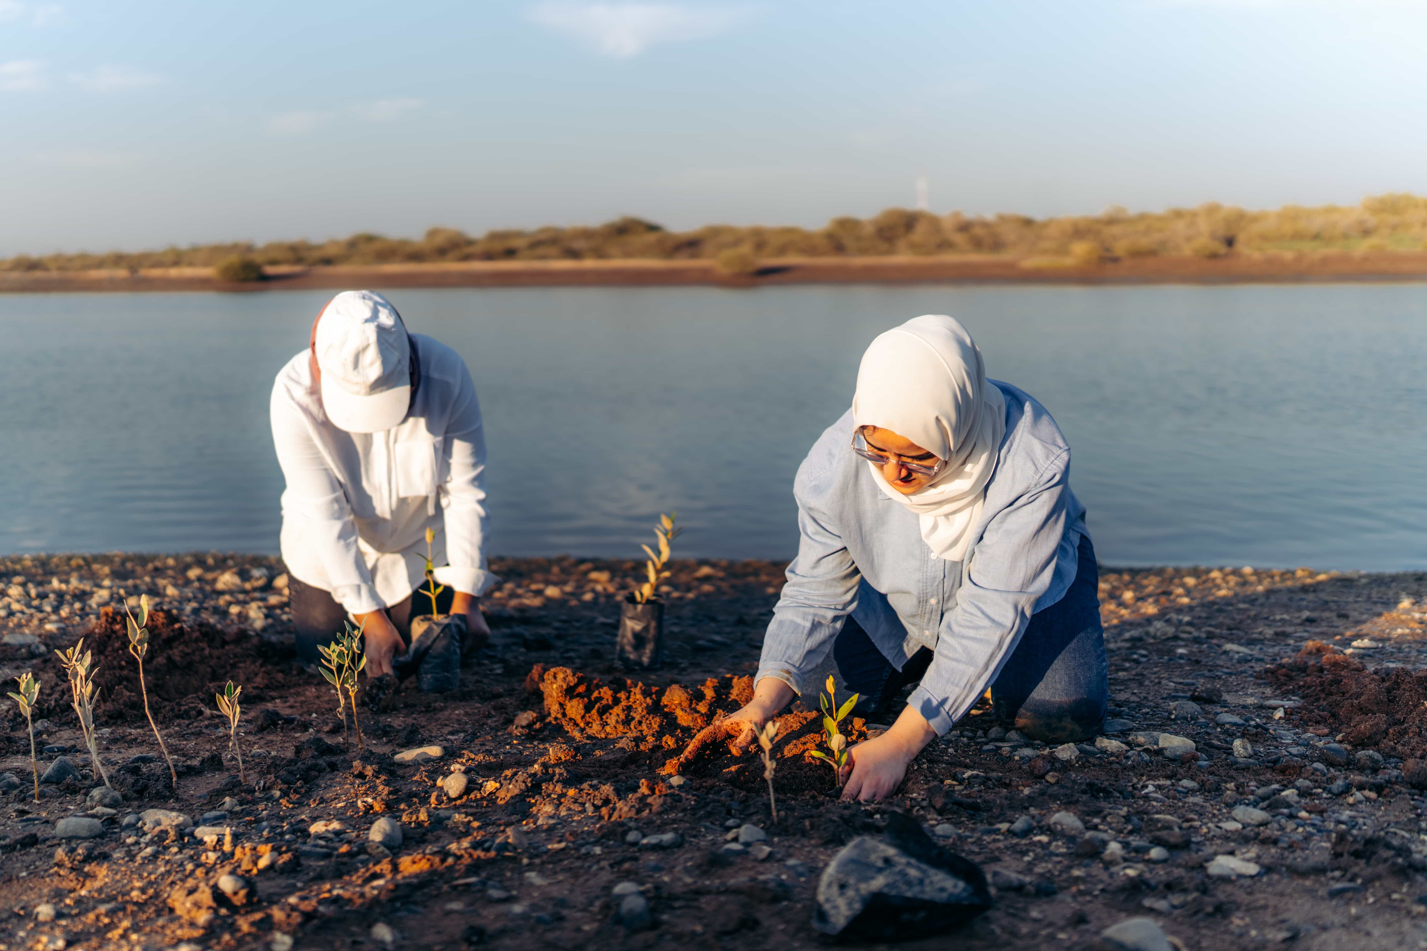
[[[273,442],[283,466],[283,560],[352,615],[390,607],[425,580],[425,532],[437,583],[484,595],[485,433],[465,361],[412,334],[421,382],[394,429],[345,432],[323,412],[308,351],[273,385]],[[440,502],[440,512],[438,509]],[[420,595],[418,595],[420,597]]]

